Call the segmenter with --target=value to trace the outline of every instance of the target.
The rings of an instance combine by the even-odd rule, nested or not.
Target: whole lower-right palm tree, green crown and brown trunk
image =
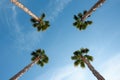
[[[72,60],[75,60],[74,65],[80,65],[82,68],[85,68],[85,64],[88,68],[92,71],[94,76],[98,80],[105,80],[99,72],[95,70],[95,68],[90,64],[90,61],[93,61],[93,57],[88,55],[89,49],[81,48],[80,50],[75,51],[73,54],[74,56],[71,57]]]

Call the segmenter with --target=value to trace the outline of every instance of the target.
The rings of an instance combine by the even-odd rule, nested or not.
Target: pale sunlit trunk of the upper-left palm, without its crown
[[[27,7],[25,7],[22,3],[18,2],[17,0],[11,0],[11,2],[39,21],[39,18],[35,14],[33,14]]]

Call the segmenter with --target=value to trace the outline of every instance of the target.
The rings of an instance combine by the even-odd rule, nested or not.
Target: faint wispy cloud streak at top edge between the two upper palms
[[[71,2],[72,0],[54,0],[50,2],[49,9],[51,9],[49,19],[54,21],[54,19],[63,11],[63,9]]]

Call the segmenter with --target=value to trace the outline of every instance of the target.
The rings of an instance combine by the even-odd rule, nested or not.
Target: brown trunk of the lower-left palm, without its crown
[[[24,67],[20,72],[18,72],[16,75],[14,75],[12,78],[9,80],[18,80],[25,72],[27,72],[37,61],[39,58],[36,58],[32,63]]]

